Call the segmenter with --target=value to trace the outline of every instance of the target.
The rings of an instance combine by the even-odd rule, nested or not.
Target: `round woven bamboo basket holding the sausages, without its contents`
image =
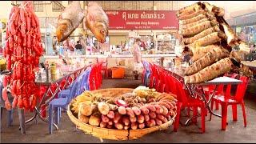
[[[110,88],[110,89],[102,89],[102,90],[94,90],[91,91],[92,94],[102,94],[102,96],[118,96],[120,94],[125,94],[132,92],[134,89],[128,89],[128,88]],[[98,126],[91,126],[89,124],[85,124],[83,122],[80,122],[78,118],[76,118],[71,110],[70,105],[68,106],[67,114],[70,117],[70,120],[74,122],[76,126],[78,126],[78,129],[83,130],[86,134],[91,134],[94,137],[98,137],[101,139],[111,139],[111,140],[132,140],[132,139],[138,139],[142,138],[143,135],[152,133],[157,130],[166,130],[168,129],[173,123],[174,118],[171,119],[169,122],[166,122],[162,124],[161,126],[154,126],[150,128],[145,129],[138,129],[138,130],[115,130],[115,129],[106,129],[101,128]]]

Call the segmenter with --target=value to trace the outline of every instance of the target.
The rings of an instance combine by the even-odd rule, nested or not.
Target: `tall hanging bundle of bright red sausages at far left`
[[[38,17],[34,14],[32,2],[23,1],[13,6],[6,28],[6,47],[3,56],[7,61],[10,76],[3,79],[2,98],[6,109],[25,108],[33,110],[37,103],[37,86],[34,84],[34,70],[42,56],[41,33]],[[12,105],[7,97],[7,86],[14,97]]]

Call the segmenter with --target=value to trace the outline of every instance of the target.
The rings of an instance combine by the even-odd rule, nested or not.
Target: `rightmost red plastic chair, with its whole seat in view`
[[[244,126],[246,127],[246,111],[245,111],[245,103],[243,101],[243,97],[246,94],[246,88],[248,86],[249,78],[245,76],[241,76],[240,80],[241,84],[237,86],[237,90],[233,95],[222,95],[222,96],[214,96],[214,100],[221,103],[222,106],[222,130],[226,130],[226,121],[227,121],[227,106],[232,105],[233,110],[233,120],[237,120],[237,110],[234,109],[238,104],[242,106],[242,114],[244,120]]]

